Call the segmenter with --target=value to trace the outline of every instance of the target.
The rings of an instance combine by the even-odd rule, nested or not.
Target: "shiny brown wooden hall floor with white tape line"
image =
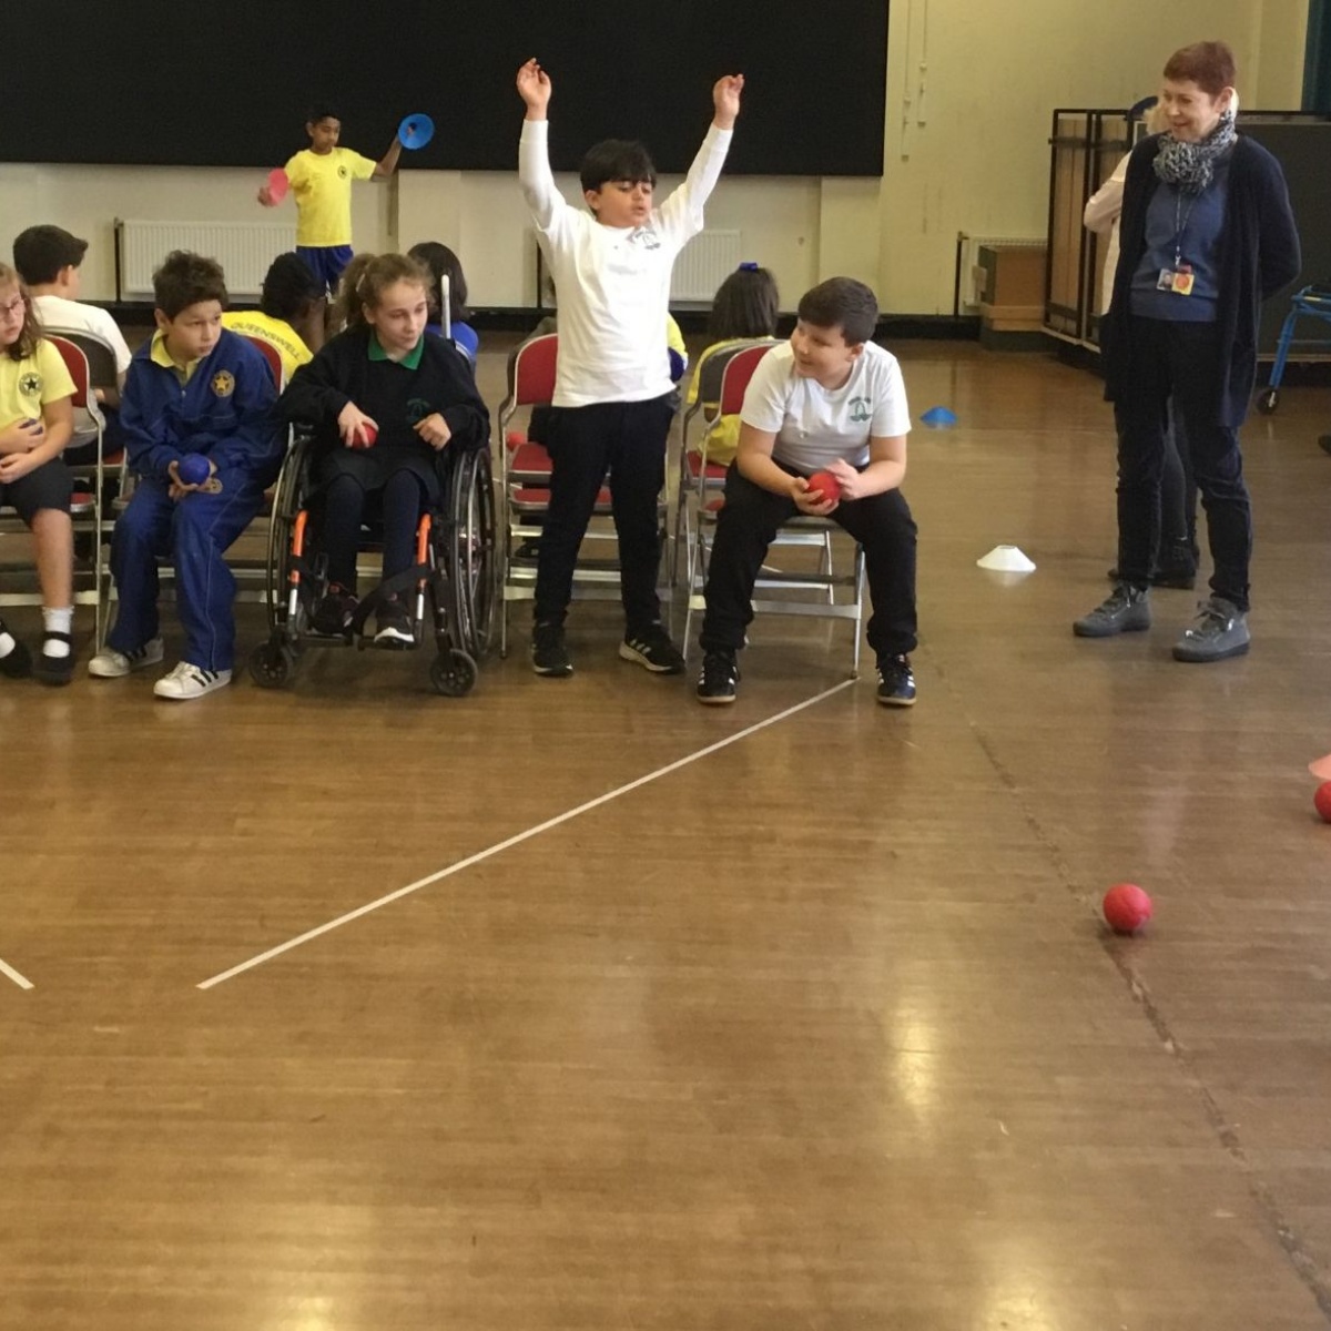
[[[607,607],[466,700],[0,680],[0,1327],[1331,1326],[1331,390],[1244,433],[1252,654],[1178,666],[1185,592],[1070,631],[1097,382],[898,350],[960,418],[910,445],[913,712],[772,619],[700,708]]]

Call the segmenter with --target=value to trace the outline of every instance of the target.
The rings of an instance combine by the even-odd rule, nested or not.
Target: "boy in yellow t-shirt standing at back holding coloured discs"
[[[285,166],[295,198],[295,253],[309,264],[323,289],[337,294],[342,270],[351,262],[351,184],[391,176],[402,156],[402,144],[394,137],[378,161],[339,148],[342,121],[326,105],[310,112],[305,132],[310,136],[310,146],[302,148]],[[258,192],[258,201],[265,208],[281,202],[268,185]]]

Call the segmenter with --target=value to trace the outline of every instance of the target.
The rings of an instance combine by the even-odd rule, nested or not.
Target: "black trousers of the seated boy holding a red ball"
[[[793,475],[793,473],[792,473]],[[753,620],[753,583],[783,522],[799,512],[795,500],[755,484],[731,463],[725,506],[707,568],[703,651],[739,651]],[[869,578],[869,646],[878,656],[916,648],[916,524],[900,490],[843,499],[832,520],[864,547]]]

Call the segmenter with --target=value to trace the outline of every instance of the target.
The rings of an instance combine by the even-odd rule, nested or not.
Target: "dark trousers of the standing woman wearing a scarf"
[[[1221,347],[1214,323],[1134,315],[1131,378],[1114,403],[1118,427],[1118,567],[1138,587],[1150,582],[1161,539],[1161,476],[1170,399],[1182,425],[1193,479],[1202,495],[1215,574],[1211,591],[1248,608],[1252,506],[1238,431],[1215,421]]]

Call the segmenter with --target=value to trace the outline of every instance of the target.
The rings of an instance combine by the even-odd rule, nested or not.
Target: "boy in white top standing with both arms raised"
[[[684,184],[660,208],[652,206],[656,172],[647,149],[622,140],[596,144],[582,164],[591,209],[584,213],[563,200],[550,172],[550,76],[535,60],[518,71],[527,104],[518,174],[559,290],[559,367],[546,437],[554,470],[531,642],[538,675],[572,673],[564,616],[578,548],[607,471],[626,619],[619,655],[660,675],[684,668],[656,598],[656,499],[675,411],[666,315],[675,256],[703,229],[703,205],[725,162],[743,87],[741,75],[717,80],[712,126]]]

